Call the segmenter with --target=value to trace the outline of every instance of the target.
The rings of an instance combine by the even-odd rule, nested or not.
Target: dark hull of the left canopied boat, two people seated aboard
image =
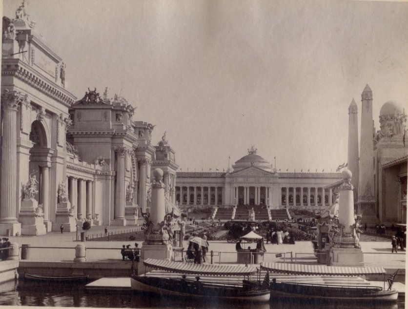
[[[131,287],[134,291],[143,291],[143,292],[150,292],[156,294],[163,294],[172,297],[187,297],[187,298],[201,298],[201,299],[208,299],[208,298],[218,298],[224,300],[234,300],[234,301],[249,301],[249,302],[267,302],[270,298],[270,291],[269,290],[243,290],[242,287],[216,287],[212,286],[209,287],[206,284],[202,285],[202,289],[200,291],[190,291],[186,292],[181,289],[177,289],[177,285],[180,283],[181,280],[174,280],[174,284],[170,281],[165,282],[164,280],[169,279],[161,279],[161,283],[166,283],[173,289],[166,289],[163,284],[154,284],[149,283],[149,280],[146,280],[146,277],[143,276],[132,276],[131,277]],[[153,280],[151,280],[153,281]],[[189,287],[193,287],[194,283],[190,282]]]

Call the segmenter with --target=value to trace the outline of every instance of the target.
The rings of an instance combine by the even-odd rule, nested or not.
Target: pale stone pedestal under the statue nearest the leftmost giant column
[[[21,202],[20,223],[22,235],[44,235],[46,229],[41,214],[36,213],[38,202],[35,199],[26,198]]]

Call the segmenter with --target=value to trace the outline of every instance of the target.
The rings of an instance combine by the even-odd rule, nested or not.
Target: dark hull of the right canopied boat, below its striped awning
[[[384,291],[359,287],[330,287],[306,284],[277,283],[271,285],[272,298],[313,299],[332,301],[395,301],[398,291]]]

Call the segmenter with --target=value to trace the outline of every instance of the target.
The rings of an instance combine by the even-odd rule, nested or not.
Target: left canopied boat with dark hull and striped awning
[[[180,276],[172,278],[146,276],[146,274],[131,276],[132,290],[159,293],[167,296],[199,298],[199,299],[220,299],[228,301],[251,301],[267,302],[270,297],[269,282],[265,285],[228,284],[208,280],[201,280],[204,276],[249,276],[257,273],[255,267],[245,267],[236,265],[200,265],[187,264],[183,262],[172,262],[157,259],[144,260],[144,266],[176,272]],[[196,280],[186,279],[186,274],[197,275]],[[207,279],[208,277],[206,277]]]

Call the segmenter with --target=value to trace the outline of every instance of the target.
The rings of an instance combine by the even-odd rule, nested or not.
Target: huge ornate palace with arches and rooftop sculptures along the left
[[[166,136],[154,146],[154,126],[106,89],[80,100],[65,89],[66,66],[24,3],[2,21],[0,234],[135,224],[157,167],[174,201],[178,166]]]

